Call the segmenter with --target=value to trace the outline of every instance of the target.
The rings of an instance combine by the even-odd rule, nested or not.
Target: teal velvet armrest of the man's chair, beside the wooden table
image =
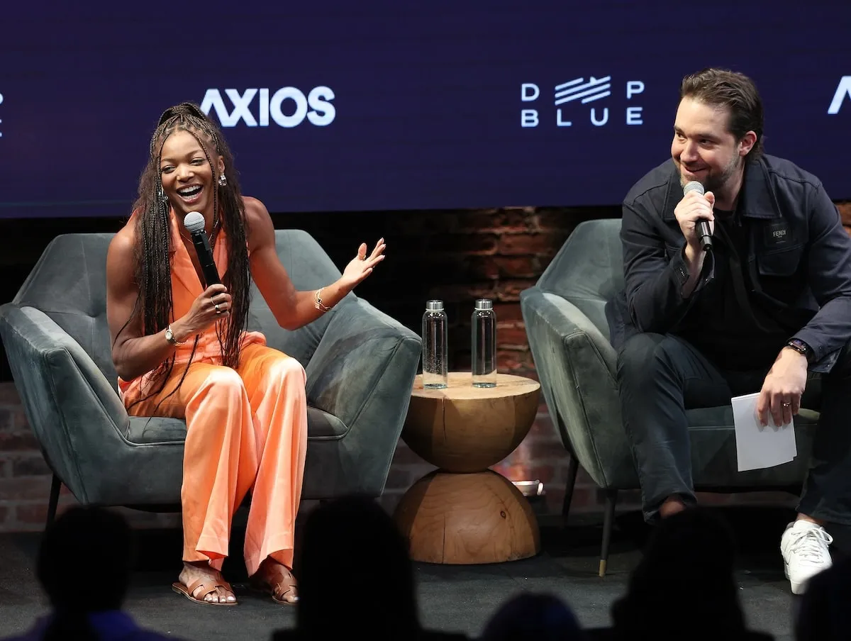
[[[594,482],[611,487],[631,461],[620,415],[617,352],[597,326],[562,296],[523,291],[529,346],[552,421]]]

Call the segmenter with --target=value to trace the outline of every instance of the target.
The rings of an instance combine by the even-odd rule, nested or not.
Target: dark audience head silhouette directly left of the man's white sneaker
[[[732,531],[716,512],[690,507],[663,518],[612,606],[615,627],[664,636],[665,625],[682,633],[683,622],[699,621],[709,635],[743,631],[734,562]]]

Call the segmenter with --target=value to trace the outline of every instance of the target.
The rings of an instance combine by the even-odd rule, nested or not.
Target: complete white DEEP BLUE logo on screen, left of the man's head
[[[643,94],[644,83],[641,80],[630,80],[625,85],[626,100],[631,100],[634,95]],[[566,120],[563,116],[563,107],[569,102],[574,105],[587,105],[589,102],[603,100],[612,95],[612,77],[594,77],[588,78],[585,82],[585,77],[574,78],[568,80],[567,83],[557,84],[553,89],[556,126],[557,127],[573,127],[572,120]],[[540,88],[535,83],[523,83],[520,85],[520,100],[523,102],[533,102],[540,97]],[[574,108],[575,107],[571,107]],[[567,107],[565,108],[567,109]],[[591,124],[595,127],[603,127],[608,123],[608,106],[603,106],[597,110],[596,106],[591,106],[589,118]],[[642,119],[643,107],[628,106],[626,107],[626,124],[640,125],[644,121]],[[538,109],[522,109],[520,110],[520,126],[521,127],[537,127],[540,124],[540,111]]]

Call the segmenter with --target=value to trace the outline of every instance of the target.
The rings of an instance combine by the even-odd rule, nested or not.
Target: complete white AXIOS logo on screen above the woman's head
[[[254,101],[258,93],[260,97]],[[248,127],[268,127],[270,116],[280,127],[295,127],[305,118],[317,127],[324,127],[337,115],[334,105],[329,102],[334,100],[334,92],[328,87],[314,87],[306,96],[295,87],[277,89],[271,98],[269,89],[246,89],[242,95],[237,89],[225,89],[225,94],[233,105],[232,111],[225,106],[219,89],[207,89],[201,102],[201,111],[209,115],[214,109],[222,127],[236,127],[240,120]],[[292,104],[284,106],[284,100],[291,100]],[[284,113],[285,108],[289,113]]]

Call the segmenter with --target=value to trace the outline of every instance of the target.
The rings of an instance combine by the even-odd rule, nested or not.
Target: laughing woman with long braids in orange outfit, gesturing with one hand
[[[203,271],[183,224],[203,215],[221,283]],[[246,330],[257,283],[277,323],[297,329],[336,305],[384,259],[361,244],[342,277],[297,291],[277,256],[266,207],[243,197],[215,123],[192,103],[169,108],[128,223],[106,265],[106,313],[118,388],[131,415],[186,419],[184,568],[173,588],[200,604],[234,605],[220,574],[231,518],[248,492],[245,564],[277,603],[297,600],[294,525],[307,444],[305,370]]]

